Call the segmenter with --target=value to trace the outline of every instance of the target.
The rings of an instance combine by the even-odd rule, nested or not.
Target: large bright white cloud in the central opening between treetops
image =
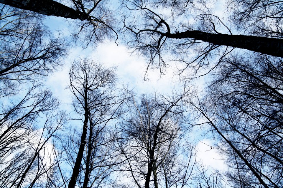
[[[113,42],[105,42],[91,54],[106,66],[117,66],[117,75],[124,83],[130,83],[139,93],[150,93],[154,90],[164,93],[178,87],[177,77],[172,79],[173,72],[169,71],[160,77],[159,70],[149,70],[146,74],[146,61],[136,54],[132,54],[125,46],[117,46]],[[169,69],[168,69],[169,70]]]

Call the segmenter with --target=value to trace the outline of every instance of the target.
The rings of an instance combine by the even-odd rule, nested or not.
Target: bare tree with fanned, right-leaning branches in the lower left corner
[[[65,124],[65,115],[57,110],[58,101],[50,91],[39,90],[38,85],[15,101],[1,106],[1,187],[32,187],[52,166],[46,164],[45,152],[51,152],[46,147]]]

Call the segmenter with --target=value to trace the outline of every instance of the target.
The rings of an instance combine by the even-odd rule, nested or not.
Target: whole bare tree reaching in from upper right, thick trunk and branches
[[[203,68],[208,72],[208,69],[214,69],[223,57],[227,56],[234,48],[282,57],[283,48],[280,37],[282,32],[279,29],[280,10],[282,10],[280,2],[262,3],[264,5],[255,3],[258,7],[254,8],[255,11],[260,9],[266,13],[268,15],[265,16],[266,19],[269,16],[272,17],[272,19],[268,19],[267,23],[270,24],[269,29],[275,28],[272,32],[277,35],[265,34],[269,31],[265,26],[261,27],[259,24],[257,26],[261,28],[258,29],[261,33],[243,33],[232,29],[233,26],[224,24],[225,20],[213,15],[213,10],[209,8],[207,1],[125,0],[122,2],[124,7],[129,10],[125,13],[124,28],[122,29],[125,40],[129,47],[148,58],[148,67],[162,69],[168,64],[166,57],[168,52],[171,52],[170,60],[182,63],[178,64],[180,73],[187,68],[191,68],[190,71]],[[239,1],[232,2],[234,2],[234,8],[229,8],[229,10],[231,10],[231,14],[235,15],[231,15],[230,19],[237,16],[237,11],[234,10],[238,9],[237,2]],[[247,1],[247,4],[253,8],[253,2]],[[244,11],[244,6],[242,15],[249,17],[249,12]],[[278,14],[273,15],[273,10]],[[263,13],[262,15],[264,15]],[[253,15],[256,18],[258,14]],[[241,15],[238,17],[241,18]],[[252,19],[252,16],[249,19]],[[258,23],[256,20],[254,22]],[[275,25],[278,29],[272,27]],[[191,71],[190,74],[192,73]]]

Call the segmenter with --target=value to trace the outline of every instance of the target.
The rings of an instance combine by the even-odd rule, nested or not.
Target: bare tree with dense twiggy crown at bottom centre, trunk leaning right
[[[175,182],[179,180],[177,177],[171,176],[177,174],[178,167],[174,165],[180,155],[184,134],[185,105],[182,100],[185,93],[174,97],[144,95],[138,102],[134,98],[131,101],[119,148],[126,159],[121,170],[128,172],[134,182],[130,186],[157,188],[180,183]],[[169,170],[172,170],[170,174]]]

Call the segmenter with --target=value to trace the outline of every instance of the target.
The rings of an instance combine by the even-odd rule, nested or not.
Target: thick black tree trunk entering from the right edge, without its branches
[[[227,35],[206,33],[203,31],[185,31],[182,33],[165,33],[168,38],[194,38],[215,45],[247,49],[271,56],[283,57],[283,39],[249,35]]]

